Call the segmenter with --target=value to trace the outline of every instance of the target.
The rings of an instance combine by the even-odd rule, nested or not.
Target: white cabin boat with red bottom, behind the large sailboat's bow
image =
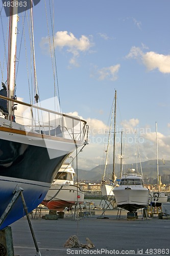
[[[84,202],[84,191],[74,184],[75,170],[70,163],[63,163],[51,188],[41,204],[50,210],[63,211]]]

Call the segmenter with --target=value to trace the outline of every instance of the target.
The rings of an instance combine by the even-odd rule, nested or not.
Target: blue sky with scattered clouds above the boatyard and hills
[[[50,0],[51,7],[53,2],[61,110],[81,117],[89,125],[89,144],[78,156],[79,168],[90,170],[105,163],[115,90],[116,162],[120,162],[119,132],[124,131],[125,163],[134,163],[139,158],[141,162],[153,160],[156,163],[156,122],[159,159],[169,160],[170,2]],[[41,100],[54,97],[48,39],[52,37],[49,1],[46,0],[45,4],[41,0],[33,7],[36,72]],[[7,23],[2,3],[1,14],[3,24]],[[23,13],[20,13],[18,27],[22,27],[22,20]],[[2,25],[1,34],[1,39],[3,37],[5,40],[6,32]],[[18,37],[22,37],[22,28]],[[26,44],[28,42],[29,33]],[[1,71],[5,70],[4,45],[2,42]],[[20,54],[19,49],[17,52],[16,93],[24,101],[30,102],[27,72],[22,65],[26,59],[25,48],[21,48]],[[3,71],[2,80],[5,80]],[[111,138],[110,151],[112,142]],[[112,163],[112,153],[108,163]]]

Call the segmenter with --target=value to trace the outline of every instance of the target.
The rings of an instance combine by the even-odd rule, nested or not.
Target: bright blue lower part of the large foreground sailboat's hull
[[[11,202],[14,194],[16,186],[21,187],[23,189],[23,197],[25,199],[26,205],[28,207],[28,211],[31,212],[33,209],[37,207],[42,201],[42,198],[45,197],[48,188],[50,187],[50,183],[45,182],[35,182],[31,180],[23,180],[23,179],[15,179],[9,177],[0,176],[0,215],[4,213],[4,210]],[[25,216],[25,211],[23,209],[23,204],[21,201],[21,197],[19,196],[15,203],[12,205],[11,210],[9,211],[5,220],[1,223],[1,229],[9,226],[11,223],[17,221],[18,219]]]

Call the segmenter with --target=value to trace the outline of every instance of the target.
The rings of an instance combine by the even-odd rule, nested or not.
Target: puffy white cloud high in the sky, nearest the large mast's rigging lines
[[[45,52],[50,51],[49,38],[47,36],[41,39],[40,46]],[[80,53],[89,51],[92,46],[93,43],[85,35],[82,35],[80,38],[76,38],[73,33],[69,33],[68,31],[58,31],[54,36],[54,47],[58,47],[61,50],[66,48],[66,51],[72,54],[72,58],[69,62],[74,66],[78,66],[77,58]]]

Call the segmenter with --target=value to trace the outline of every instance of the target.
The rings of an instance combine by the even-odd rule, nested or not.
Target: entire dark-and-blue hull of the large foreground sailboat
[[[4,119],[3,119],[4,120]],[[15,123],[15,125],[17,125]],[[77,147],[82,146],[79,141]],[[11,202],[15,187],[23,189],[29,211],[44,199],[62,163],[76,149],[74,141],[0,127],[0,217]],[[19,197],[7,217],[5,228],[25,215]]]

